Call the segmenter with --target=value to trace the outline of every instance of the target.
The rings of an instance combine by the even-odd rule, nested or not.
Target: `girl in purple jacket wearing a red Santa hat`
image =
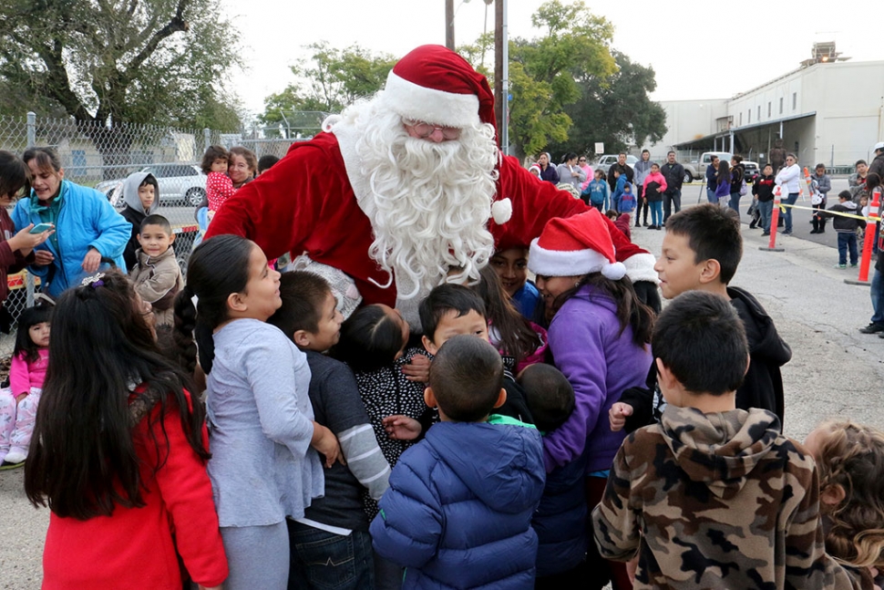
[[[547,471],[574,461],[587,450],[586,500],[601,500],[608,471],[624,438],[608,427],[608,409],[624,389],[642,386],[651,367],[653,312],[643,305],[626,267],[617,263],[601,213],[591,210],[553,219],[531,243],[529,268],[550,319],[550,351],[556,367],[574,388],[570,418],[543,437]],[[588,559],[599,574],[598,587],[610,576],[615,590],[631,588],[623,564]]]

